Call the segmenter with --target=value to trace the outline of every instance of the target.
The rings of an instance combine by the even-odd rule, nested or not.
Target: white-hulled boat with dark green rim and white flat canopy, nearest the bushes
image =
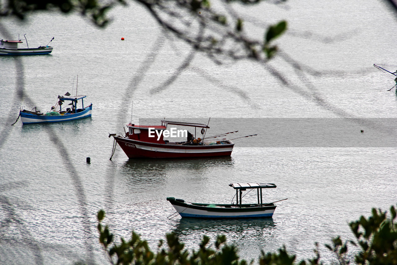
[[[262,202],[262,189],[276,188],[273,183],[231,183],[230,187],[236,190],[236,203],[231,204],[208,204],[208,203],[190,203],[182,199],[175,199],[168,197],[169,201],[175,210],[182,217],[195,218],[264,218],[272,217],[276,204]],[[242,204],[241,198],[243,191],[249,189],[256,189],[258,195],[258,203]],[[246,193],[247,194],[247,193]],[[175,212],[176,213],[176,212]]]

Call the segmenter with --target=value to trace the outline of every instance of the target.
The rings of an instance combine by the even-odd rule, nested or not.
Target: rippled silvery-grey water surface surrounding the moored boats
[[[187,248],[197,247],[203,235],[226,234],[245,259],[282,245],[305,259],[313,256],[314,242],[319,242],[322,259],[329,262],[334,257],[323,245],[337,235],[352,238],[349,222],[368,216],[372,207],[387,210],[395,205],[393,124],[388,131],[365,127],[364,134],[357,125],[357,136],[353,131],[349,137],[362,139],[360,146],[252,147],[255,141],[274,140],[261,134],[261,127],[278,128],[263,122],[252,131],[236,123],[228,127],[230,119],[222,120],[396,118],[397,96],[386,91],[393,80],[372,66],[396,62],[395,14],[377,1],[347,1],[343,6],[288,1],[233,8],[245,16],[251,33],[263,34],[265,18],[289,21],[289,31],[278,41],[281,55],[301,62],[306,71],[296,71],[283,57],[270,65],[290,86],[281,84],[267,66],[251,61],[218,66],[200,54],[170,86],[160,86],[190,48],[164,37],[147,12],[133,4],[112,10],[113,21],[106,29],[77,15],[0,21],[2,39],[27,33],[29,46],[35,47],[55,37],[51,55],[0,58],[1,264],[106,263],[96,233],[100,209],[106,210],[112,232],[128,238],[135,230],[154,250],[168,232],[178,234]],[[91,119],[10,126],[19,106],[48,111],[58,94],[75,93],[77,75],[78,94],[93,103]],[[26,95],[22,100],[20,89]],[[210,122],[208,133],[227,128],[259,135],[235,140],[230,158],[128,160],[118,147],[110,161],[113,141],[108,133],[123,133],[123,125],[131,121],[132,101],[133,123],[140,118],[211,117],[216,123]],[[383,133],[380,147],[365,138],[375,129]],[[330,133],[341,131],[336,126]],[[292,128],[285,137],[294,135]],[[228,184],[235,182],[276,183],[277,189],[266,191],[265,201],[288,200],[278,203],[273,218],[265,220],[167,218],[175,211],[166,197],[229,203],[234,190]],[[245,198],[254,201],[250,195]]]

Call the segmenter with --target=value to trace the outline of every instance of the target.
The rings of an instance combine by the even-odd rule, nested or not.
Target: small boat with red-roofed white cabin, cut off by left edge
[[[54,37],[48,44],[50,44],[53,39]],[[29,48],[26,39],[27,48],[18,48],[18,43],[23,42],[19,38],[17,41],[0,40],[0,55],[45,55],[52,52],[52,47],[48,46],[48,44],[46,46],[39,46],[38,48]]]

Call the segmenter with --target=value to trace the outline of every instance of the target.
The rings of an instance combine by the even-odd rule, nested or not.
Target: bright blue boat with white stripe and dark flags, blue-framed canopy
[[[72,121],[91,117],[93,104],[91,103],[91,105],[84,107],[83,99],[85,97],[87,96],[71,96],[69,92],[67,92],[63,96],[58,95],[58,102],[56,103],[56,105],[51,107],[50,111],[47,111],[46,113],[40,112],[37,107],[34,107],[30,111],[21,108],[19,110],[19,115],[21,117],[22,124],[55,123],[60,121]],[[68,102],[70,103],[67,104]],[[79,104],[77,104],[78,102]],[[64,107],[62,107],[62,105],[64,105]],[[79,108],[80,106],[81,108]]]

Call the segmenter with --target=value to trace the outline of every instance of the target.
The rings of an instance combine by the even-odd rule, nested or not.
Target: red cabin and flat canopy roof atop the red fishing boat
[[[179,126],[187,126],[187,127],[195,127],[195,136],[196,136],[196,128],[204,128],[208,129],[208,125],[201,123],[184,123],[178,121],[161,121],[161,125],[135,125],[135,124],[127,124],[128,132],[126,136],[132,140],[142,141],[142,142],[150,142],[155,144],[166,144],[169,141],[164,140],[163,131],[167,129],[168,125],[179,125]],[[149,137],[149,129],[150,137]],[[202,134],[205,131],[200,131]],[[189,133],[188,133],[189,134]],[[159,137],[160,135],[160,137]],[[167,136],[166,136],[167,137]],[[170,142],[171,143],[171,142]],[[172,142],[173,143],[173,142]]]

